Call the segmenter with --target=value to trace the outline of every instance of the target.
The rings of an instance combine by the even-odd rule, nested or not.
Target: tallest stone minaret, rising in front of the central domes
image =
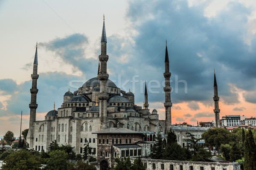
[[[103,28],[102,28],[102,40],[101,40],[101,55],[99,55],[100,61],[100,73],[99,73],[99,85],[100,85],[100,93],[99,93],[99,117],[100,117],[100,129],[107,128],[107,37],[105,31],[105,17],[103,17]]]

